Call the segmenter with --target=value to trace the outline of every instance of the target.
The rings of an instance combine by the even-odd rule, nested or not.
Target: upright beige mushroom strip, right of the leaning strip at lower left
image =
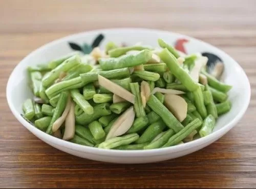
[[[65,132],[63,134],[63,140],[70,140],[75,135],[75,104],[71,102],[69,113],[65,121]]]

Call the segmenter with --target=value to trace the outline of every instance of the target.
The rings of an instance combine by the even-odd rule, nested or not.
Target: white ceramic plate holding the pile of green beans
[[[114,41],[116,43],[125,42],[126,44],[131,45],[137,42],[142,42],[142,44],[157,46],[158,38],[162,38],[172,44],[174,44],[177,39],[185,38],[189,40],[189,42],[184,45],[187,53],[210,52],[218,55],[225,64],[224,82],[233,86],[228,94],[229,99],[232,102],[231,110],[218,119],[214,132],[206,137],[178,146],[136,151],[105,150],[73,144],[69,141],[48,135],[25,121],[20,115],[20,113],[22,113],[22,103],[25,99],[32,97],[32,93],[27,85],[27,66],[44,63],[67,53],[71,53],[73,51],[68,42],[75,42],[80,45],[84,42],[92,43],[95,36],[100,33],[104,35],[104,39],[100,44],[101,48],[103,48],[108,41]],[[240,65],[229,55],[210,44],[195,38],[167,31],[125,28],[79,33],[41,46],[39,49],[30,53],[14,68],[7,84],[6,93],[9,107],[16,119],[38,138],[59,150],[98,161],[114,163],[147,163],[172,159],[195,152],[208,146],[226,134],[238,123],[248,107],[250,101],[250,84]]]

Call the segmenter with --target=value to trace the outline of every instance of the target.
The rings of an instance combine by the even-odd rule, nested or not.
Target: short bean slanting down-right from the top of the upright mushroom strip
[[[70,91],[71,97],[74,102],[82,108],[82,110],[87,114],[93,114],[93,107],[89,104],[89,102],[83,98],[78,89],[73,89]]]

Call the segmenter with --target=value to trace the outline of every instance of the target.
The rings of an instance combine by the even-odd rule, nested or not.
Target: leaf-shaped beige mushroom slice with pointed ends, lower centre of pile
[[[132,127],[134,118],[135,112],[133,106],[131,106],[114,122],[108,135],[106,135],[106,140],[124,134]]]

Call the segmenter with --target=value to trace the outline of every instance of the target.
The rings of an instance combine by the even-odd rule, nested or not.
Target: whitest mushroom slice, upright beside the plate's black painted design
[[[202,69],[203,66],[206,65],[208,61],[208,58],[207,57],[204,57],[204,56],[201,56],[201,57],[198,57],[196,60],[195,60],[195,65],[194,67],[190,70],[190,77],[196,81],[196,82],[199,82],[199,74],[200,74],[200,70]]]

